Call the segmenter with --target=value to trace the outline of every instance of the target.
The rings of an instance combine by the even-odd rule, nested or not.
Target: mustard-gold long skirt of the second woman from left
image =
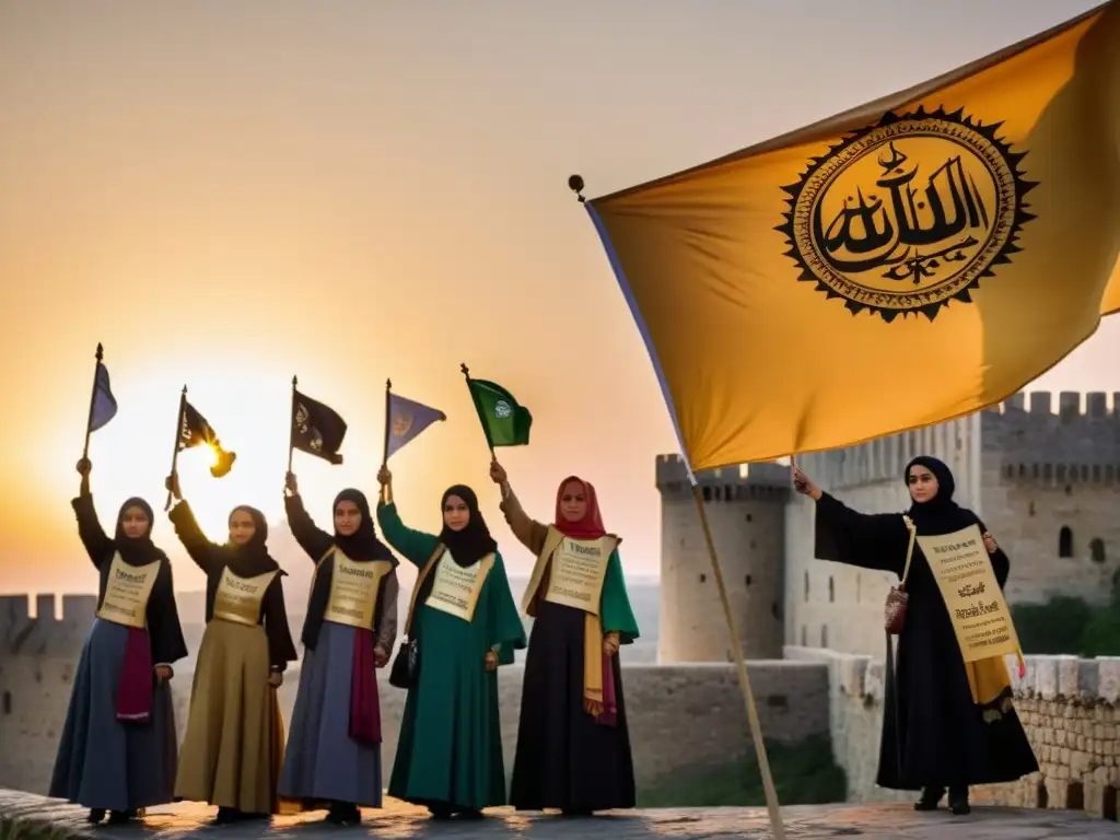
[[[268,680],[269,641],[263,627],[222,619],[206,626],[176,799],[246,813],[278,813],[283,724]]]

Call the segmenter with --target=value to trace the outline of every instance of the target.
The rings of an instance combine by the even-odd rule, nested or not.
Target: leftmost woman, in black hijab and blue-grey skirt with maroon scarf
[[[171,563],[151,541],[151,505],[130,498],[112,539],[77,472],[77,532],[97,570],[97,618],[82,648],[49,795],[90,809],[97,823],[128,822],[175,797],[177,745],[171,663],[187,655]]]

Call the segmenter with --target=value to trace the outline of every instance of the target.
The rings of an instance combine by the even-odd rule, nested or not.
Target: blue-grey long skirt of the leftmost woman
[[[177,748],[171,689],[152,679],[151,718],[116,719],[129,628],[97,619],[82,648],[49,795],[90,809],[131,811],[174,800]]]

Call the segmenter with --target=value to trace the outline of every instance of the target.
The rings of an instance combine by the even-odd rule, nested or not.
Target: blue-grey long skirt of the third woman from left
[[[306,809],[330,802],[381,808],[381,745],[349,735],[353,627],[324,622],[304,654],[280,795]]]

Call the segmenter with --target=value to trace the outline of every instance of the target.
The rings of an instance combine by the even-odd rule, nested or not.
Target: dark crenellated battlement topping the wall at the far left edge
[[[97,609],[94,595],[64,595],[62,615],[55,596],[35,597],[36,617],[27,595],[0,596],[0,660],[9,656],[74,656],[82,650]]]

